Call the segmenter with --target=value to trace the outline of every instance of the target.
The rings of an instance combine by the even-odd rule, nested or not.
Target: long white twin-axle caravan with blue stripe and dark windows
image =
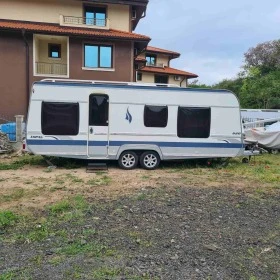
[[[118,160],[124,169],[244,151],[232,92],[76,80],[34,83],[26,144],[34,154]]]

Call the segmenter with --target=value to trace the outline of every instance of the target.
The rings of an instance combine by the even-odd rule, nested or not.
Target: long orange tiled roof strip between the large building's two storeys
[[[95,36],[101,38],[112,39],[128,39],[135,41],[150,41],[148,36],[140,35],[137,33],[130,33],[115,29],[101,30],[85,27],[69,27],[60,26],[59,24],[52,23],[38,23],[29,21],[13,21],[13,20],[0,20],[0,29],[22,30],[32,32],[44,32],[44,33],[56,33],[56,34],[72,34],[72,35],[84,35]]]

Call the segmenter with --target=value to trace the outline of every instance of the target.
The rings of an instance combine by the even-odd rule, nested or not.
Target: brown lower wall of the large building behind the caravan
[[[26,34],[26,37],[29,44],[28,92],[30,92],[33,82],[50,78],[50,76],[33,76],[33,35]],[[114,71],[83,70],[84,42],[92,41],[69,38],[71,79],[133,81],[131,63],[133,61],[133,44],[131,42],[108,42],[114,46]],[[29,100],[27,97],[26,47],[21,31],[4,32],[0,30],[0,100],[0,117],[14,120],[14,116],[18,114],[27,116]]]

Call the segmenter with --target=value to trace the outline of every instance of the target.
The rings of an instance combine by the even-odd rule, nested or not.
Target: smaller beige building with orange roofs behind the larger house
[[[187,87],[188,80],[198,75],[170,67],[170,61],[179,57],[177,52],[148,46],[135,59],[136,81]]]

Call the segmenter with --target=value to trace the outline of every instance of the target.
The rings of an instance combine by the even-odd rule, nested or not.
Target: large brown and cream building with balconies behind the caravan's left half
[[[135,81],[134,33],[148,0],[1,0],[0,121],[27,114],[45,78]],[[125,69],[125,71],[124,71]]]

